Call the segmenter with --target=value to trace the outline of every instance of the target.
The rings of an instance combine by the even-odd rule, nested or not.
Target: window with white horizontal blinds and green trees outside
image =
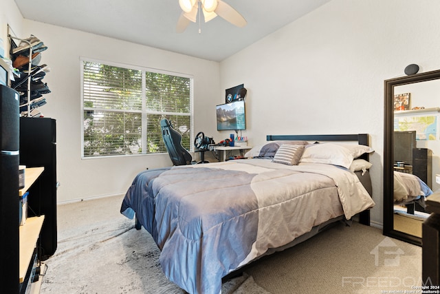
[[[166,152],[168,118],[190,149],[192,77],[82,60],[83,157]]]

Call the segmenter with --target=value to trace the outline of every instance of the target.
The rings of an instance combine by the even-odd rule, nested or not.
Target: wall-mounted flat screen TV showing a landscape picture
[[[216,106],[217,131],[246,129],[245,101]]]

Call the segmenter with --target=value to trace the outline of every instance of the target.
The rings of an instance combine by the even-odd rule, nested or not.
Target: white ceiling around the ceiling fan
[[[330,0],[224,0],[248,21],[237,28],[220,17],[175,32],[178,0],[15,0],[25,19],[222,61]]]

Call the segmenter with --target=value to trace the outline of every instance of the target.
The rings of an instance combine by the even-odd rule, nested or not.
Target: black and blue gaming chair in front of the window
[[[160,120],[160,128],[162,129],[162,138],[164,138],[166,150],[173,165],[194,164],[191,154],[181,145],[181,134],[173,129],[170,121],[166,118]]]

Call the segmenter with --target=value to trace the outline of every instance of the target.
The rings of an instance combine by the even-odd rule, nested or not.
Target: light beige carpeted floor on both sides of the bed
[[[58,249],[41,293],[184,293],[166,280],[159,251],[120,215],[122,196],[58,206]],[[421,248],[353,222],[245,267],[223,293],[391,293],[421,281]]]

